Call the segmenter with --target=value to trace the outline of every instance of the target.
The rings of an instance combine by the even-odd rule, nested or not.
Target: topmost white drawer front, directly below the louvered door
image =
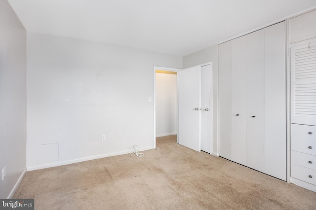
[[[291,124],[291,137],[316,140],[316,126]]]

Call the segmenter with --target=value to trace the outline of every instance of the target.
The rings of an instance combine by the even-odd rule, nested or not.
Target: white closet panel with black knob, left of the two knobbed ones
[[[232,161],[246,165],[245,36],[232,40]]]

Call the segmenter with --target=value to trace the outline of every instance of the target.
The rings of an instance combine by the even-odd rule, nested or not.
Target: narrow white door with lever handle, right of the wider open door
[[[211,65],[201,67],[201,150],[211,153]]]

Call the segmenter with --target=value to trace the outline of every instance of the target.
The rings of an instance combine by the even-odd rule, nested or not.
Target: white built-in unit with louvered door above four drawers
[[[288,19],[290,182],[316,192],[316,10]]]

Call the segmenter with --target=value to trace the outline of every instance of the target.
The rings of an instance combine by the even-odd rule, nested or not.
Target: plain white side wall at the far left
[[[26,31],[8,2],[0,0],[0,198],[13,196],[25,170]]]

